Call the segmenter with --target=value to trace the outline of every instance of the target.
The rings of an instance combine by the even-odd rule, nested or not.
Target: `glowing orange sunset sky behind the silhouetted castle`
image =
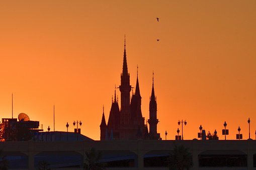
[[[142,115],[149,118],[154,71],[157,131],[184,139],[199,126],[235,139],[256,130],[256,1],[0,1],[0,113],[24,112],[44,130],[100,139],[120,85],[124,35],[130,84],[136,67]],[[157,22],[156,17],[159,18]],[[159,42],[156,41],[159,39]],[[120,91],[117,90],[120,96]],[[120,97],[119,97],[120,99]],[[119,101],[120,106],[120,101]]]

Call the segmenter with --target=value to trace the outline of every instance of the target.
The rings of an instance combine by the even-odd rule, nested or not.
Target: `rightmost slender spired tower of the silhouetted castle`
[[[152,84],[152,92],[149,102],[149,135],[150,139],[157,140],[160,137],[160,133],[157,133],[157,123],[158,119],[156,118],[156,97],[154,93],[154,73],[153,73],[153,84]]]

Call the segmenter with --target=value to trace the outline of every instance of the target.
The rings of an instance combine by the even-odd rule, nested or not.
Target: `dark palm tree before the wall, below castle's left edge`
[[[83,169],[86,170],[100,170],[105,169],[106,163],[100,162],[102,152],[97,151],[94,147],[90,151],[86,151],[86,160],[83,164]]]

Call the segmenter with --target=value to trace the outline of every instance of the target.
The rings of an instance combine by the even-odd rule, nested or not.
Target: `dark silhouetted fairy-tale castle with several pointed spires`
[[[124,60],[123,71],[121,73],[121,85],[118,87],[121,92],[121,108],[119,109],[118,99],[116,98],[116,90],[114,100],[112,97],[112,106],[110,109],[108,124],[106,124],[104,108],[102,121],[100,125],[101,140],[158,140],[160,133],[157,133],[156,118],[156,97],[154,94],[154,79],[152,83],[152,92],[149,102],[149,132],[147,123],[145,124],[145,117],[141,113],[141,96],[139,91],[139,80],[137,72],[137,82],[135,93],[130,92],[132,86],[130,85],[130,73],[128,73],[126,50],[124,41]]]

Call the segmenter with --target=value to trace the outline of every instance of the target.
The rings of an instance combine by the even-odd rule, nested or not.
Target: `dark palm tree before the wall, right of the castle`
[[[184,145],[179,145],[178,147],[175,145],[174,150],[170,153],[169,157],[169,169],[173,170],[182,170],[184,168],[189,169],[192,167],[192,154],[188,151],[188,147],[184,147]]]

